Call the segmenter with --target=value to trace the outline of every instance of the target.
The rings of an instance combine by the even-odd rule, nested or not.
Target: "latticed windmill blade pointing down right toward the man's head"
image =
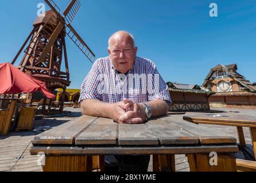
[[[77,47],[83,52],[84,55],[91,61],[94,62],[95,54],[91,51],[90,47],[83,41],[83,39],[79,36],[79,34],[73,29],[73,27],[69,24],[65,24],[66,33],[69,38],[76,44]]]

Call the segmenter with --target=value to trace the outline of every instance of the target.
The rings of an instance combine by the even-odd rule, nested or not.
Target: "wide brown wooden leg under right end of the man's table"
[[[210,165],[209,154],[187,154],[191,172],[236,172],[234,154],[218,154],[218,165]]]

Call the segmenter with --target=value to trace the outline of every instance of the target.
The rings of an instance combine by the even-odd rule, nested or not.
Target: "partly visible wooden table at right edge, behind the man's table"
[[[185,121],[193,122],[194,124],[236,126],[236,129],[238,131],[239,144],[241,147],[246,146],[245,136],[243,134],[243,127],[250,128],[254,158],[256,157],[256,117],[244,115],[241,113],[186,113],[183,119]],[[240,162],[242,164],[242,160],[239,160],[239,163]],[[243,165],[245,164],[248,163],[243,162]],[[254,164],[256,169],[256,162],[250,162],[250,164]]]

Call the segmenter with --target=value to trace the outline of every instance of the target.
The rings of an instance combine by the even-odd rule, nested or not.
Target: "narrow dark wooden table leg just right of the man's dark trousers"
[[[153,172],[175,172],[175,154],[153,155]]]

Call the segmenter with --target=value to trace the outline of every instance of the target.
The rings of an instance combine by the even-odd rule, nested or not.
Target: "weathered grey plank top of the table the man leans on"
[[[238,152],[236,139],[172,116],[146,124],[117,124],[82,116],[39,134],[30,153],[46,154],[183,154]]]

